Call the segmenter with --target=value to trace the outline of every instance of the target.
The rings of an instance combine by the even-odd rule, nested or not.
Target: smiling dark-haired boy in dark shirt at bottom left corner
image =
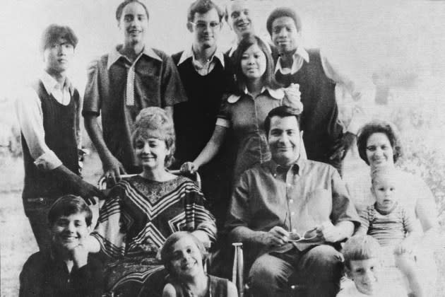
[[[93,213],[81,197],[65,195],[49,209],[51,248],[31,255],[20,273],[20,297],[95,297],[102,293],[102,264],[88,257]]]

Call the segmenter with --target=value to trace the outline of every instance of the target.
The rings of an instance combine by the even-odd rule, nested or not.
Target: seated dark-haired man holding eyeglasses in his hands
[[[242,174],[226,222],[230,240],[243,243],[253,262],[251,293],[290,296],[292,276],[298,296],[336,296],[338,244],[359,224],[345,183],[331,165],[300,156],[297,110],[276,107],[264,129],[272,159]]]

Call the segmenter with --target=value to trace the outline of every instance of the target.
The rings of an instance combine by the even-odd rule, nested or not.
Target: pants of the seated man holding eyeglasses
[[[255,260],[249,272],[254,297],[291,296],[289,279],[303,284],[307,297],[335,297],[340,289],[342,257],[331,245],[309,250],[293,248],[282,254],[269,252]]]

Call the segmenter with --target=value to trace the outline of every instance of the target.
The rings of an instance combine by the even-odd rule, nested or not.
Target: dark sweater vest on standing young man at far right
[[[278,71],[275,78],[285,87],[299,83],[304,107],[300,126],[307,157],[326,162],[343,135],[343,125],[338,120],[336,83],[324,73],[319,50],[308,50],[308,53],[309,63],[304,62],[299,71],[286,75]]]

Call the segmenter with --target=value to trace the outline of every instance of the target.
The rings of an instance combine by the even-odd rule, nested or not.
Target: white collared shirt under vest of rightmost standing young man
[[[338,64],[333,63],[332,58],[328,58],[324,52],[320,51],[321,66],[328,78],[338,83],[350,93],[353,102],[343,102],[343,97],[336,96],[338,103],[340,120],[345,123],[345,131],[357,134],[358,129],[367,122],[367,114],[364,112],[367,105],[372,103],[374,93],[367,90],[367,86],[358,79],[353,80],[352,74],[348,74]],[[293,62],[291,68],[283,68],[281,66],[281,57],[278,57],[275,65],[275,74],[280,71],[281,74],[295,74],[302,68],[303,63],[309,63],[309,54],[304,47],[297,47],[293,54]],[[370,83],[367,83],[371,85]]]

